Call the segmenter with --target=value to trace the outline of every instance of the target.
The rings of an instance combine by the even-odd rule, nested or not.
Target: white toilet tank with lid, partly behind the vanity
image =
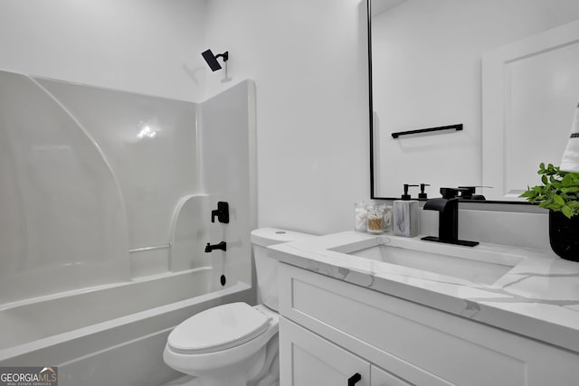
[[[279,261],[268,258],[269,245],[314,237],[308,233],[285,231],[277,228],[260,228],[252,231],[253,256],[257,273],[258,301],[275,311],[279,311],[278,265]]]

